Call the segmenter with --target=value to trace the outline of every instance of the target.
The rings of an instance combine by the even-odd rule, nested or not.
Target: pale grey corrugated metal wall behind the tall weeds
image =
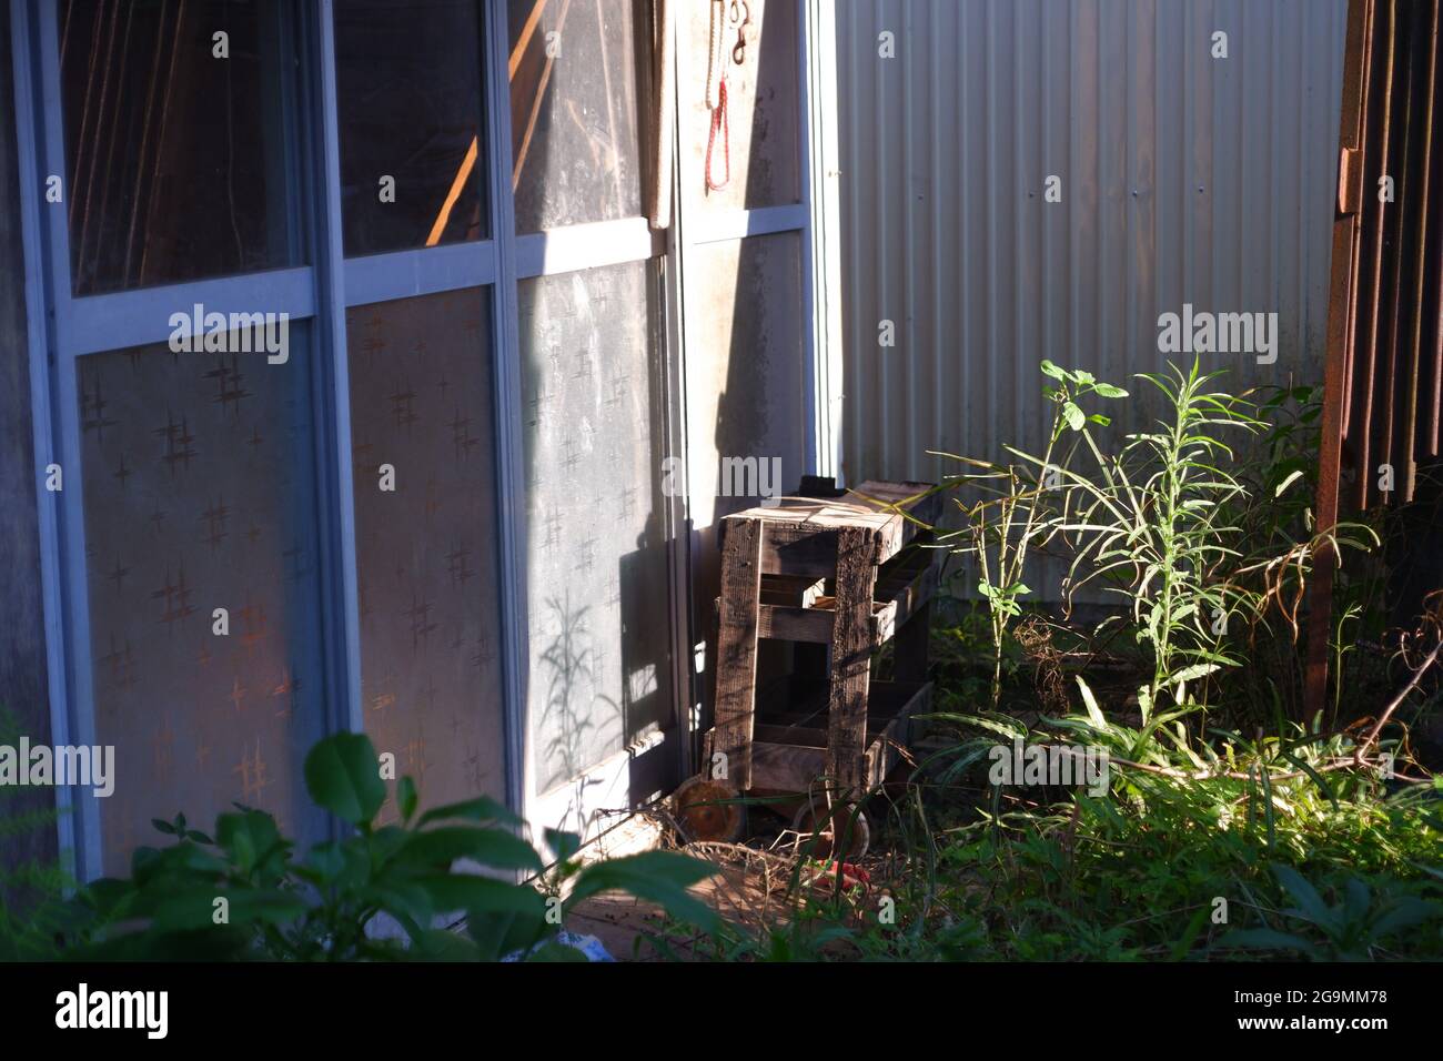
[[[1039,446],[1043,358],[1128,385],[1183,303],[1278,313],[1277,364],[1214,355],[1234,390],[1320,381],[1345,30],[1345,0],[838,0],[847,479]]]

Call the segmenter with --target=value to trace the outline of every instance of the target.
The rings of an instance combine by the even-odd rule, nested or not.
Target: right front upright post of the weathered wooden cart
[[[866,782],[867,680],[872,671],[872,590],[877,531],[847,527],[837,549],[837,612],[831,634],[827,772],[846,793]]]

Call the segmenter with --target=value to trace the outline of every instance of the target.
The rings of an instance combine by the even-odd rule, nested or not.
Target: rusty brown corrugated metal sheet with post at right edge
[[[1351,0],[1339,118],[1339,189],[1316,525],[1348,502],[1413,498],[1417,463],[1439,452],[1443,397],[1443,166],[1434,143],[1440,0]],[[1377,195],[1382,176],[1391,201]],[[1434,296],[1434,286],[1437,296]],[[1424,403],[1427,407],[1424,409]],[[1392,468],[1384,494],[1374,476]],[[1304,706],[1328,700],[1335,550],[1322,547],[1309,585]]]

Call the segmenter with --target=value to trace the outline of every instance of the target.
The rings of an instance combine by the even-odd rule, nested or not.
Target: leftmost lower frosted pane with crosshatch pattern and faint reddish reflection
[[[166,344],[79,361],[107,873],[162,839],[153,817],[209,829],[237,800],[320,837],[302,782],[325,709],[299,331],[284,364]]]

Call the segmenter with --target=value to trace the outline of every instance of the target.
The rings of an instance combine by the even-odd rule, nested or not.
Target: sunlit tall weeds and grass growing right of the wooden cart
[[[1388,635],[1387,527],[1313,525],[1316,393],[1232,396],[1196,364],[1173,368],[1140,378],[1160,422],[1117,439],[1101,409],[1121,388],[1043,372],[1045,450],[967,460],[947,484],[948,544],[971,564],[957,580],[977,602],[952,601],[934,631],[926,759],[869,807],[886,853],[860,876],[802,859],[792,917],[727,927],[706,953],[1443,957],[1443,764],[1413,739],[1439,712],[1440,615]],[[1320,549],[1343,560],[1333,663],[1348,694],[1306,717],[1299,641]],[[1027,588],[1043,559],[1065,572],[1061,609]],[[996,769],[1039,745],[1105,754],[1105,790]]]

